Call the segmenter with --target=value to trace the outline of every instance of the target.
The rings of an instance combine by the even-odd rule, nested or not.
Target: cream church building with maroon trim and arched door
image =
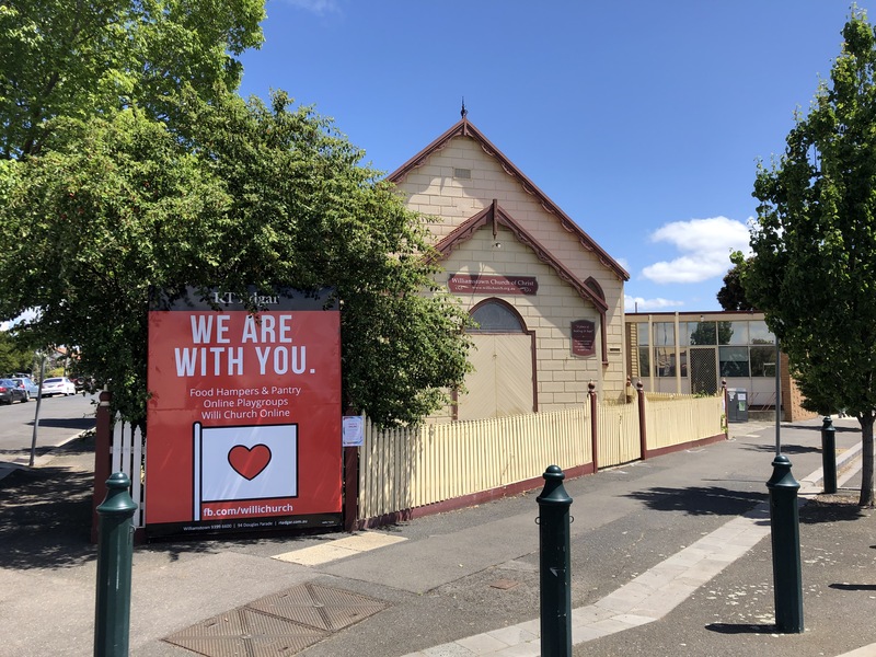
[[[436,283],[471,314],[474,371],[433,420],[477,419],[625,394],[626,270],[462,118],[389,175],[430,219]]]

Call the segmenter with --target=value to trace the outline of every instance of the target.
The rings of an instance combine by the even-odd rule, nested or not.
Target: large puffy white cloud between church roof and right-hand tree
[[[654,283],[700,283],[724,276],[733,264],[730,252],[750,253],[748,227],[727,217],[672,221],[657,229],[653,242],[669,242],[682,252],[673,261],[661,261],[642,269]]]

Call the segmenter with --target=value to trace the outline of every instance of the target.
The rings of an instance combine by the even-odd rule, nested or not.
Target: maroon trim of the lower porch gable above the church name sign
[[[545,265],[551,267],[556,275],[567,284],[569,284],[578,295],[590,301],[600,314],[604,314],[608,310],[608,304],[604,299],[590,289],[584,281],[579,280],[569,269],[560,261],[557,261],[551,252],[548,251],[542,244],[533,238],[520,223],[518,223],[502,206],[494,199],[489,207],[481,210],[474,217],[463,221],[457,229],[447,235],[443,240],[435,245],[435,250],[441,254],[442,257],[449,256],[462,243],[466,242],[474,233],[481,228],[486,226],[493,227],[493,234],[496,234],[496,227],[502,226],[510,230],[514,235],[522,243],[529,246],[538,257]]]

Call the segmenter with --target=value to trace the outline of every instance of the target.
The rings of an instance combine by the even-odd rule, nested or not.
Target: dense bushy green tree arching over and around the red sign
[[[182,139],[145,112],[58,120],[38,157],[0,162],[0,316],[72,344],[140,422],[147,301],[186,285],[336,288],[346,401],[416,422],[462,383],[465,314],[435,288],[422,218],[331,122],[189,94]],[[51,272],[51,276],[46,276]]]

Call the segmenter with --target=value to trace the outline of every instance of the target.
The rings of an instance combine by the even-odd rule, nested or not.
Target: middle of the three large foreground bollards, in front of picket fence
[[[572,655],[572,570],[569,562],[569,516],[572,498],[563,487],[565,474],[557,465],[544,471],[544,489],[539,503],[539,549],[541,583],[541,655]]]

